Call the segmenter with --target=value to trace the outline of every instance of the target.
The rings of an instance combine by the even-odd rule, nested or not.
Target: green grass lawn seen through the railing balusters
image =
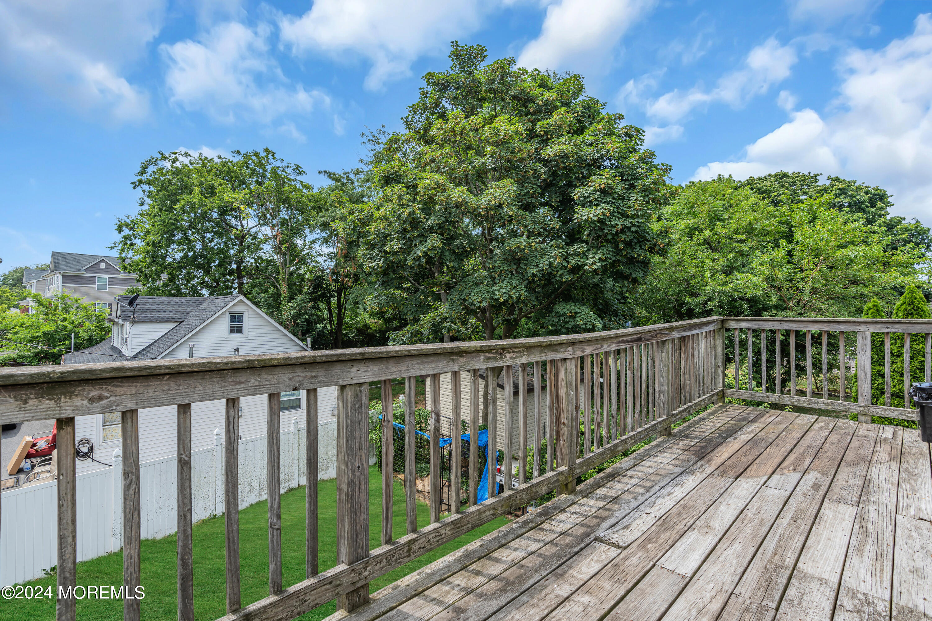
[[[304,488],[292,490],[281,496],[281,565],[284,585],[290,586],[304,579]],[[320,498],[320,564],[321,571],[336,565],[336,480],[321,481]],[[377,468],[369,469],[369,524],[371,547],[378,547],[381,540],[381,475]],[[397,538],[405,533],[404,490],[397,482],[394,487],[394,534]],[[261,600],[268,594],[268,514],[265,502],[256,503],[240,511],[240,576],[243,605]],[[418,526],[430,521],[428,506],[418,503]],[[371,583],[370,590],[398,580],[404,575],[427,565],[458,547],[490,533],[505,523],[503,518],[492,520],[485,526],[459,539],[412,560],[389,574]],[[177,618],[176,544],[171,535],[158,540],[146,540],[142,550],[142,585],[145,599],[142,601],[143,618]],[[87,560],[77,565],[77,584],[116,585],[122,584],[123,556],[120,552],[98,559]],[[28,583],[33,586],[51,585],[54,577],[42,578]],[[226,614],[226,578],[224,560],[223,517],[203,520],[194,525],[194,605],[199,619],[215,619]],[[301,616],[301,619],[322,619],[336,611],[333,601]],[[77,615],[80,619],[94,621],[123,618],[122,601],[94,600],[78,601]],[[55,600],[0,601],[0,619],[6,621],[52,619],[55,617]]]

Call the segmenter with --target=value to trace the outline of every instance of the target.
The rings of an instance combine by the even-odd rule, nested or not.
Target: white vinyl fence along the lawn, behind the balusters
[[[284,422],[284,421],[283,421]],[[304,425],[291,420],[281,432],[281,491],[306,482]],[[336,421],[318,428],[320,479],[336,478]],[[370,460],[371,461],[371,460]],[[77,476],[77,560],[89,560],[122,547],[122,460],[114,466]],[[223,433],[213,447],[191,454],[191,500],[195,522],[224,512]],[[142,534],[158,539],[177,530],[177,460],[174,455],[140,465]],[[240,440],[240,509],[267,495],[266,437]],[[56,482],[14,488],[3,493],[0,516],[0,587],[41,577],[57,564]]]

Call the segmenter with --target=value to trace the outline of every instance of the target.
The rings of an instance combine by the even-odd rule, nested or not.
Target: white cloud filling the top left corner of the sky
[[[81,112],[148,113],[123,72],[161,29],[165,0],[0,0],[0,71]]]

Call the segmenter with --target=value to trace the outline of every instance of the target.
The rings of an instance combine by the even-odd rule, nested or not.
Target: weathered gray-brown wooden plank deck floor
[[[929,619],[913,429],[716,406],[331,619]]]

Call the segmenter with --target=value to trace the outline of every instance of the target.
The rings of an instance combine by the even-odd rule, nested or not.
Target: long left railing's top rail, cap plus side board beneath
[[[720,317],[565,336],[0,370],[0,423],[573,358],[721,327]]]

